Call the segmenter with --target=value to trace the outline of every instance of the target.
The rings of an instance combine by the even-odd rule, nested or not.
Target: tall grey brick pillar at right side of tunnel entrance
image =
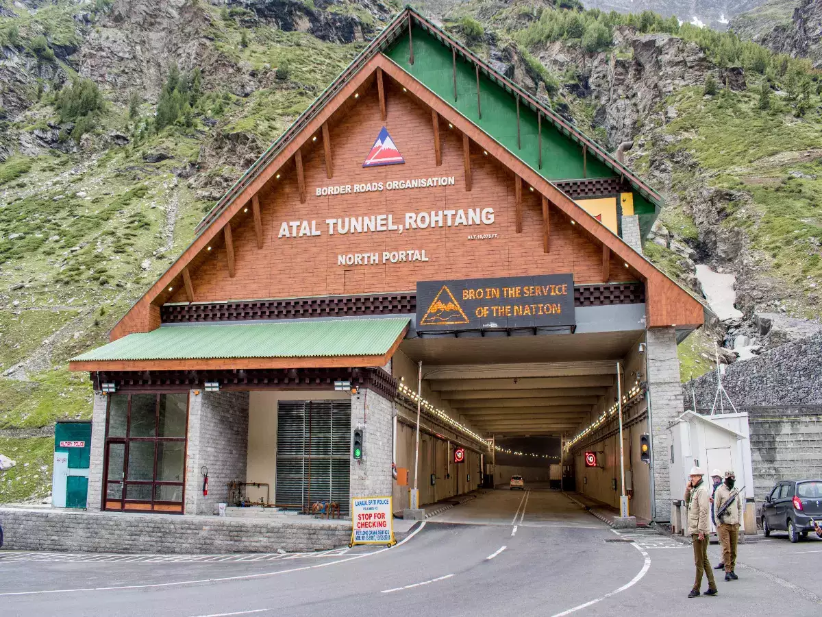
[[[648,329],[648,385],[653,423],[653,485],[656,518],[671,517],[671,440],[667,427],[682,414],[677,336],[672,327]]]

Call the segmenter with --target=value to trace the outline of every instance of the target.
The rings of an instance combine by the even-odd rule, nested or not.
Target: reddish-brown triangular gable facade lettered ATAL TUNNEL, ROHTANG
[[[406,9],[386,30],[413,19],[422,18]],[[412,292],[417,281],[552,273],[572,273],[577,284],[640,281],[649,327],[701,325],[696,299],[380,44],[205,217],[111,340],[159,327],[168,303]],[[383,128],[404,162],[364,167]],[[418,229],[407,228],[409,215]],[[443,224],[423,229],[432,216]],[[352,233],[352,217],[393,229]]]

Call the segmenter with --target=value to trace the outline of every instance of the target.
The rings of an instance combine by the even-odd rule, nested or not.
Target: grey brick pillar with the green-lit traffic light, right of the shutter
[[[365,426],[363,460],[351,461],[351,496],[390,495],[393,403],[363,390],[351,397],[351,429]]]

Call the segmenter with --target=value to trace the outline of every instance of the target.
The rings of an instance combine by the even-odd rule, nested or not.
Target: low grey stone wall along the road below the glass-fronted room
[[[274,553],[344,546],[350,522],[0,508],[4,549],[84,553]]]

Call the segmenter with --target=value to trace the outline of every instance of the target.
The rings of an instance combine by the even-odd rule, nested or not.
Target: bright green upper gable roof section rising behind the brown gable
[[[414,63],[410,63],[409,24],[413,39]],[[354,58],[344,72],[323,90],[316,100],[266,150],[196,227],[205,230],[221,212],[275,159],[306,127],[312,118],[339,92],[349,79],[376,53],[384,53],[404,71],[418,79],[447,104],[453,106],[483,132],[506,147],[548,181],[594,178],[622,178],[634,193],[634,211],[640,219],[644,238],[663,204],[662,197],[595,141],[548,109],[528,92],[483,63],[469,49],[452,39],[412,8],[406,7],[381,31],[371,44]],[[457,96],[454,97],[456,57]],[[483,114],[477,109],[477,71]],[[520,100],[520,143],[517,142],[516,109]],[[538,114],[542,119],[543,165],[539,165]],[[583,169],[583,146],[586,165]],[[586,173],[584,173],[584,171]]]

